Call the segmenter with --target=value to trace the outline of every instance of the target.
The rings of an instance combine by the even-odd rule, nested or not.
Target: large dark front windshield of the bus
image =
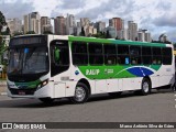
[[[42,74],[48,72],[46,47],[19,47],[10,50],[8,74]]]

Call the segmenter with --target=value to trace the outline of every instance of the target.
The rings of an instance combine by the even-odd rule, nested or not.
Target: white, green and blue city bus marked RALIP
[[[24,35],[10,40],[8,96],[51,103],[69,98],[86,102],[91,95],[122,91],[148,95],[173,86],[172,44],[69,35]]]

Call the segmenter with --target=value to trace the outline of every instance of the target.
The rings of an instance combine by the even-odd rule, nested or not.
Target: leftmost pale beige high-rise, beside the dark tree
[[[8,28],[10,29],[11,35],[14,33],[22,33],[22,21],[18,18],[7,20]]]

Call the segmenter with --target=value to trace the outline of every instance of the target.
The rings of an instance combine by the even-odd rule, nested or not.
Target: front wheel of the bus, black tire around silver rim
[[[70,101],[74,103],[84,103],[88,100],[89,95],[88,87],[82,82],[78,82],[75,88],[75,96],[70,97]]]

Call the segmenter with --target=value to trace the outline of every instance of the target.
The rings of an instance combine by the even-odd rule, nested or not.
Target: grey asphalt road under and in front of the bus
[[[51,106],[37,99],[0,96],[0,122],[176,122],[175,95],[169,90],[154,90],[148,96],[128,92],[118,98],[99,95],[84,105],[62,99]]]

